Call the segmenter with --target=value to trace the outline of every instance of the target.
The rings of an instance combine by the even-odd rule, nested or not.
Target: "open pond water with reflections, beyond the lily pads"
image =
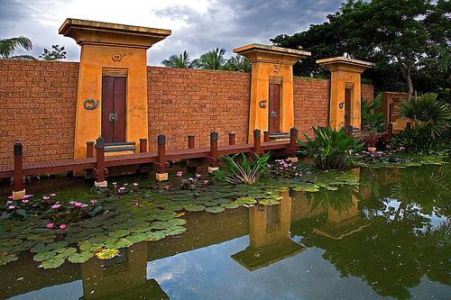
[[[449,165],[353,175],[360,185],[186,212],[186,232],[135,242],[113,259],[44,269],[26,251],[0,266],[0,298],[449,299]]]

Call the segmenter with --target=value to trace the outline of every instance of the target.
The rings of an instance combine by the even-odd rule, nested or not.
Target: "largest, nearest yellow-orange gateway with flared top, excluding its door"
[[[125,141],[148,139],[147,54],[170,31],[67,19],[60,34],[81,46],[74,157],[86,157],[87,141],[102,132],[102,77],[126,77]],[[112,122],[115,122],[114,120]]]

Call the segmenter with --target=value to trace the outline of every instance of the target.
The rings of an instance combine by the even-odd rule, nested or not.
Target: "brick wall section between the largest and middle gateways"
[[[247,142],[250,74],[149,67],[147,75],[151,149],[160,132],[169,149],[187,149],[188,134],[205,147],[212,130],[219,144],[228,142],[228,132],[236,132],[236,143]]]

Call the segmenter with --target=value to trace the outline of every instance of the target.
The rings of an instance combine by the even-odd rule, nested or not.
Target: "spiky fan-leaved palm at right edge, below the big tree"
[[[451,108],[437,101],[435,93],[401,101],[398,114],[413,123],[415,129],[426,133],[429,139],[436,139],[451,127]]]

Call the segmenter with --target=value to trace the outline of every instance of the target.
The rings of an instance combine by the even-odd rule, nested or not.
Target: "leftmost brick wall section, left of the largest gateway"
[[[0,164],[73,158],[78,63],[0,59]]]

